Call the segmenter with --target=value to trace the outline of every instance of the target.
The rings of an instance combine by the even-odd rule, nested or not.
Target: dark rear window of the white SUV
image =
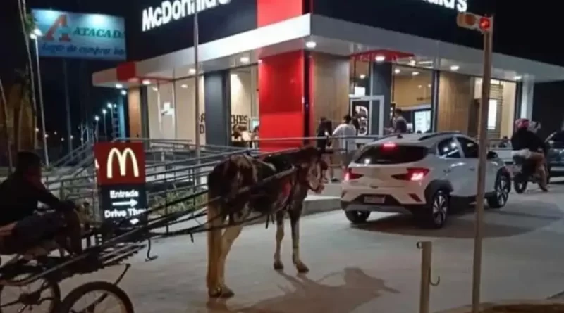
[[[422,146],[404,146],[395,143],[384,143],[378,146],[365,148],[355,158],[355,163],[376,164],[401,164],[417,162],[427,156],[428,149]]]

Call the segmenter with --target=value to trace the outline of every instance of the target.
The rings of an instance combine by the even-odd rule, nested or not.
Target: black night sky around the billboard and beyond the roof
[[[27,6],[28,8],[53,8],[82,13],[105,13],[128,18],[128,14],[139,14],[139,12],[128,12],[128,4],[133,1],[135,0],[27,0]],[[15,68],[25,68],[26,55],[18,20],[17,1],[2,0],[1,2],[0,75],[5,82],[9,83],[13,79]],[[359,8],[358,14],[369,14],[369,12],[362,11],[362,1],[353,2],[356,2],[355,6]],[[155,3],[160,3],[160,0],[155,0]],[[474,13],[495,14],[494,51],[510,55],[519,51],[520,55],[528,58],[564,65],[563,48],[558,42],[561,40],[560,32],[564,30],[563,25],[560,24],[560,8],[547,6],[548,1],[469,0],[469,3]],[[398,23],[405,23],[405,21],[398,21]],[[453,27],[456,27],[455,21],[453,21]],[[503,45],[499,44],[500,40],[503,41]],[[64,134],[66,133],[66,111],[62,83],[63,63],[59,58],[42,58],[41,62],[47,130]],[[81,120],[92,121],[93,115],[99,113],[102,106],[119,96],[115,89],[90,87],[92,72],[114,67],[116,63],[90,60],[67,60],[66,62],[71,87],[73,129],[76,129]]]

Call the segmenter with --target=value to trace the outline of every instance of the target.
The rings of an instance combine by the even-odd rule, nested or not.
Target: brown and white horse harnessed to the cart
[[[223,197],[231,200],[212,200],[207,207],[207,288],[210,298],[231,298],[234,295],[225,283],[226,258],[243,229],[243,222],[253,212],[276,216],[276,270],[283,269],[280,252],[284,237],[284,216],[288,213],[292,229],[293,263],[298,272],[309,271],[300,259],[300,216],[307,192],[323,191],[324,172],[327,168],[319,150],[310,146],[294,152],[268,155],[262,159],[249,155],[232,155],[214,167],[207,179],[208,199]],[[258,191],[251,189],[248,193],[239,194],[241,190],[285,171],[291,174],[265,182],[264,186],[257,188]]]

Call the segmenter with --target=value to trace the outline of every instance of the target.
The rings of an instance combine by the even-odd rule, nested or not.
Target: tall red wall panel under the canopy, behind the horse
[[[304,134],[304,52],[269,56],[259,64],[259,119],[262,139],[301,138]],[[261,141],[263,151],[302,145],[301,140]]]

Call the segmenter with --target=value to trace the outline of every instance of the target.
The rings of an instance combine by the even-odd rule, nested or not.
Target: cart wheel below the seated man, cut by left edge
[[[55,313],[61,305],[59,284],[49,277],[42,277],[25,286],[11,286],[42,269],[32,266],[15,267],[12,273],[1,275],[5,281],[0,285],[0,313]]]

